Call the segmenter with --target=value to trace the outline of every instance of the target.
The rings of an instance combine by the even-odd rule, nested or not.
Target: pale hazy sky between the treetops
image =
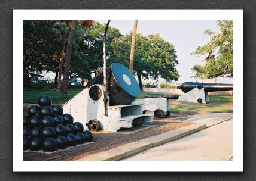
[[[99,21],[104,24],[107,21]],[[116,27],[123,35],[133,30],[133,21],[111,21],[109,26]],[[160,36],[175,46],[178,55],[179,65],[176,67],[181,77],[178,82],[196,81],[191,78],[191,68],[195,64],[202,64],[202,60],[207,57],[196,57],[190,55],[197,46],[208,43],[210,38],[203,35],[206,29],[220,32],[216,21],[138,21],[137,33],[144,36],[159,33]],[[135,50],[136,51],[136,50]],[[215,52],[214,52],[215,54]],[[198,80],[197,80],[198,81]],[[232,79],[218,78],[218,83],[232,83]]]

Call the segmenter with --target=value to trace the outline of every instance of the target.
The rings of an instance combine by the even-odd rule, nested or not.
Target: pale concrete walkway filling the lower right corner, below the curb
[[[232,127],[224,121],[124,160],[231,160]]]

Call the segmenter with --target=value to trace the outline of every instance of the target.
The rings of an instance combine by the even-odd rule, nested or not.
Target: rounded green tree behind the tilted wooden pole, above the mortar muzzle
[[[114,39],[112,42],[114,55],[108,58],[108,64],[117,61],[128,67],[131,42],[132,32]],[[179,74],[175,68],[177,64],[176,51],[172,44],[164,41],[158,34],[146,37],[137,33],[133,73],[138,76],[141,89],[143,78],[157,79],[161,76],[168,81],[178,80]]]

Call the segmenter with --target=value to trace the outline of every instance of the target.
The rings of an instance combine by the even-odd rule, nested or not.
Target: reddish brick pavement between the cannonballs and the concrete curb
[[[172,117],[155,120],[153,125],[148,129],[139,130],[130,134],[121,133],[106,133],[106,132],[93,132],[93,141],[95,143],[82,145],[74,148],[63,149],[60,152],[52,154],[45,154],[42,152],[23,152],[23,160],[78,160],[88,155],[96,154],[98,152],[107,151],[109,149],[125,145],[127,143],[135,142],[140,139],[149,138],[151,136],[159,135],[170,130],[179,129],[193,123],[170,123],[166,120],[184,120],[190,117]]]

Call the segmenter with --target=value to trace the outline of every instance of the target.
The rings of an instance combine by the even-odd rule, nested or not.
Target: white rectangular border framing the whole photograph
[[[23,20],[233,20],[233,160],[23,161]],[[13,10],[13,77],[13,171],[243,171],[243,10]]]

